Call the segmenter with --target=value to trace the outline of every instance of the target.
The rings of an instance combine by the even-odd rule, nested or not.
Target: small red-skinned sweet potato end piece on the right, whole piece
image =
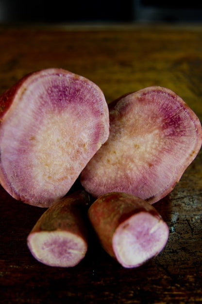
[[[101,246],[125,268],[138,267],[156,256],[169,230],[157,210],[132,194],[111,192],[88,209]]]

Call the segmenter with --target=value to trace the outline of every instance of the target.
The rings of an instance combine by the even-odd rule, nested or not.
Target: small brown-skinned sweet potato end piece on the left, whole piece
[[[27,238],[28,247],[39,262],[58,267],[73,267],[87,251],[84,214],[88,194],[74,192],[47,209]]]

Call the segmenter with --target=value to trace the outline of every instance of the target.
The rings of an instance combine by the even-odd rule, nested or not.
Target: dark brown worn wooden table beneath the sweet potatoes
[[[0,26],[0,94],[49,67],[91,79],[107,102],[151,85],[168,87],[202,121],[202,26]],[[0,188],[0,303],[202,303],[202,151],[155,208],[170,234],[147,264],[121,267],[92,235],[78,266],[57,268],[37,262],[26,244],[44,209]]]

